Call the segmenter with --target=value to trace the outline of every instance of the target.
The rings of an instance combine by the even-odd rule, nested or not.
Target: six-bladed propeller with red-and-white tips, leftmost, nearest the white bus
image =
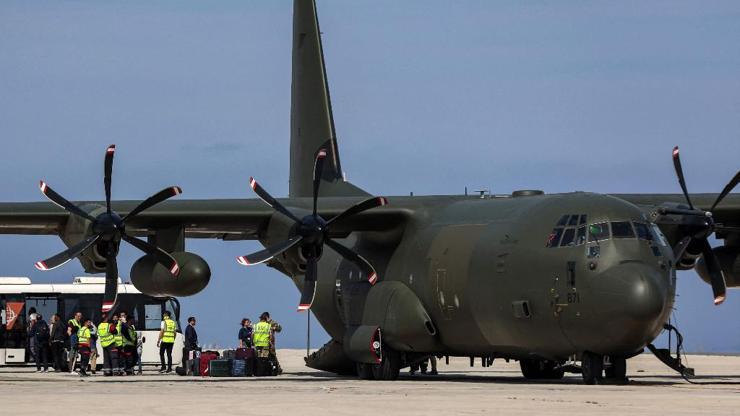
[[[69,213],[78,217],[84,218],[92,223],[93,234],[87,237],[80,243],[49,257],[46,260],[38,261],[35,266],[39,270],[51,270],[55,269],[73,258],[82,254],[83,251],[97,245],[100,249],[100,253],[105,257],[105,294],[103,295],[102,311],[104,315],[107,315],[113,310],[116,304],[116,295],[118,292],[118,263],[116,257],[118,256],[118,249],[121,240],[124,240],[132,246],[138,248],[146,254],[151,254],[158,263],[163,265],[173,276],[177,276],[180,273],[180,266],[177,261],[166,251],[161,248],[150,244],[144,240],[140,240],[136,237],[126,234],[126,221],[134,218],[145,209],[151,208],[152,206],[165,201],[175,195],[182,193],[182,189],[178,186],[171,186],[165,188],[156,194],[150,196],[143,202],[141,202],[136,208],[131,210],[124,217],[121,217],[111,208],[111,177],[113,174],[113,156],[116,152],[116,145],[110,145],[105,151],[105,163],[104,163],[104,176],[103,183],[105,185],[105,212],[94,217],[84,211],[77,205],[69,202],[63,196],[55,192],[51,187],[44,181],[41,181],[40,188],[41,193],[46,195],[51,202],[57,204],[61,208],[65,209]],[[107,319],[107,318],[106,318]]]

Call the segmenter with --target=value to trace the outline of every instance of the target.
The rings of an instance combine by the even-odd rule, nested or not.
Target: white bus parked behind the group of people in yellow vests
[[[58,313],[65,325],[76,312],[90,318],[97,326],[101,320],[100,305],[105,290],[104,277],[75,277],[72,284],[33,284],[27,277],[0,277],[0,366],[22,365],[32,360],[28,342],[28,320],[31,308],[51,324],[51,316]],[[180,331],[180,303],[172,297],[154,297],[139,292],[131,283],[118,279],[118,310],[134,318],[136,329],[146,337],[142,364],[159,365],[159,337],[162,313],[172,313],[177,323],[175,346],[172,349],[173,366],[182,361],[183,335]],[[98,366],[102,351],[98,343]],[[65,356],[66,357],[66,356]],[[51,360],[51,357],[49,357]]]

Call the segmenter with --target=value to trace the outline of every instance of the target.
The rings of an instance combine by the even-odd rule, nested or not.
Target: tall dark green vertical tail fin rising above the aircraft
[[[364,196],[360,188],[344,181],[334,130],[329,85],[326,80],[321,31],[315,0],[293,3],[293,84],[290,106],[290,197],[313,192],[313,165],[324,147],[328,162],[321,184],[322,196]]]

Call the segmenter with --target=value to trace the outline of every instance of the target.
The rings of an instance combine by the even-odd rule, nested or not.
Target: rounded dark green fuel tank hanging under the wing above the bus
[[[131,283],[151,296],[191,296],[208,286],[211,268],[202,257],[188,252],[170,254],[180,266],[179,276],[173,276],[153,256],[146,255],[131,266]]]

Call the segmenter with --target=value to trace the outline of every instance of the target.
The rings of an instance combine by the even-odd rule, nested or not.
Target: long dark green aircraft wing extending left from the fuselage
[[[319,215],[328,220],[363,200],[361,197],[322,198]],[[310,198],[279,199],[287,207],[309,210]],[[121,216],[139,201],[113,201],[113,210]],[[75,202],[93,209],[104,201]],[[158,229],[181,226],[187,238],[253,240],[267,226],[275,211],[260,199],[173,200],[163,202],[126,223],[132,235],[146,236]],[[333,227],[337,233],[384,231],[405,221],[409,210],[382,207],[363,212]],[[93,212],[94,215],[94,212]],[[0,203],[0,234],[61,235],[70,214],[51,202]]]

